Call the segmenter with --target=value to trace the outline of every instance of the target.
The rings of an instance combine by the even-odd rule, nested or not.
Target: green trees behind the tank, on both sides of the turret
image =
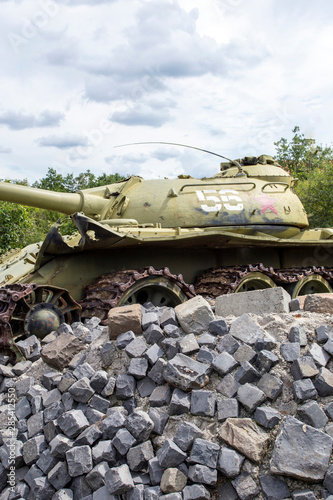
[[[333,227],[333,147],[322,146],[315,139],[306,138],[298,126],[294,127],[292,133],[290,140],[282,137],[274,143],[274,159],[298,178],[294,189],[307,212],[310,227]],[[123,179],[117,173],[95,176],[90,170],[77,176],[63,176],[49,168],[46,176],[32,184],[32,187],[73,193]],[[28,185],[26,180],[5,181]],[[59,218],[63,220],[62,234],[75,231],[70,218],[63,214],[0,202],[0,255],[12,248],[23,248],[43,240],[50,226]]]

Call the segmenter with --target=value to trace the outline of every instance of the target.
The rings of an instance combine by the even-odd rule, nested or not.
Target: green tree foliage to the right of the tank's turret
[[[310,227],[333,227],[333,148],[316,144],[294,127],[291,141],[275,142],[277,162],[299,179],[295,187]]]

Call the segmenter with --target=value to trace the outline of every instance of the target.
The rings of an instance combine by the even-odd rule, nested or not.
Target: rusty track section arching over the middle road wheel
[[[105,274],[85,288],[84,298],[80,301],[82,317],[97,316],[101,324],[106,324],[109,310],[116,307],[123,294],[137,281],[148,277],[165,277],[176,284],[190,299],[196,295],[194,286],[188,285],[181,274],[172,274],[169,268],[155,269],[152,266],[143,269],[130,269]]]

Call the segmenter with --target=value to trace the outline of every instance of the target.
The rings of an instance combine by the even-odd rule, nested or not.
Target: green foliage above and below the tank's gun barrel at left
[[[90,170],[74,177],[73,174],[63,176],[55,169],[49,168],[46,176],[35,182],[32,187],[59,192],[76,192],[80,189],[113,184],[123,180],[119,174],[102,174],[96,177]],[[15,184],[28,185],[27,180],[9,181]],[[42,241],[50,227],[59,219],[62,221],[61,234],[73,234],[76,226],[70,217],[39,208],[24,207],[0,201],[0,255],[12,248],[23,248],[30,243]]]

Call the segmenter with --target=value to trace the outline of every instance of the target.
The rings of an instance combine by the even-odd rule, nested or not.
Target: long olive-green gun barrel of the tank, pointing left
[[[101,193],[90,194],[81,191],[60,193],[9,182],[0,182],[0,200],[53,210],[66,215],[83,211],[91,217],[101,213],[109,203],[109,200],[103,198]]]

